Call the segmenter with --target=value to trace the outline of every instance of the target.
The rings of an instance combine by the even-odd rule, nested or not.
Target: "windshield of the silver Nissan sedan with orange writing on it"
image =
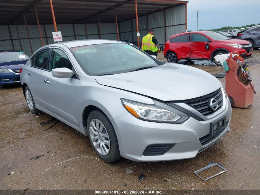
[[[162,65],[145,52],[126,43],[72,47],[70,51],[87,75],[111,75]]]

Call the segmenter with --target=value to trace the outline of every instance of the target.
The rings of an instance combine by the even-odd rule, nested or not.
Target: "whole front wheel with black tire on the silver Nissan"
[[[121,158],[116,132],[104,112],[98,109],[90,112],[87,134],[94,151],[102,160],[115,162]]]

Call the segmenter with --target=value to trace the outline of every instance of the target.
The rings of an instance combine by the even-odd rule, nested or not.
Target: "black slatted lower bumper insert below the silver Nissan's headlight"
[[[159,156],[163,155],[174,147],[175,144],[151,144],[147,146],[143,152],[143,156]]]

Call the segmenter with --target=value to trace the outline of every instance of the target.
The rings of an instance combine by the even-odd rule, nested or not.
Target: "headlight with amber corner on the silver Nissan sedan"
[[[152,105],[122,98],[121,101],[126,110],[140,120],[180,124],[189,118],[183,112],[155,100]]]

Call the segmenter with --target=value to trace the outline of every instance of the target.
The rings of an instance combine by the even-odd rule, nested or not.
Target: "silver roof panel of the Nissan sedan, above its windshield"
[[[104,44],[104,43],[123,43],[121,41],[113,41],[113,40],[104,40],[104,39],[86,39],[86,40],[76,40],[76,41],[65,41],[60,43],[54,43],[50,46],[58,46],[59,44],[65,45],[68,48],[71,47],[80,47],[83,45],[96,45],[96,44]]]

